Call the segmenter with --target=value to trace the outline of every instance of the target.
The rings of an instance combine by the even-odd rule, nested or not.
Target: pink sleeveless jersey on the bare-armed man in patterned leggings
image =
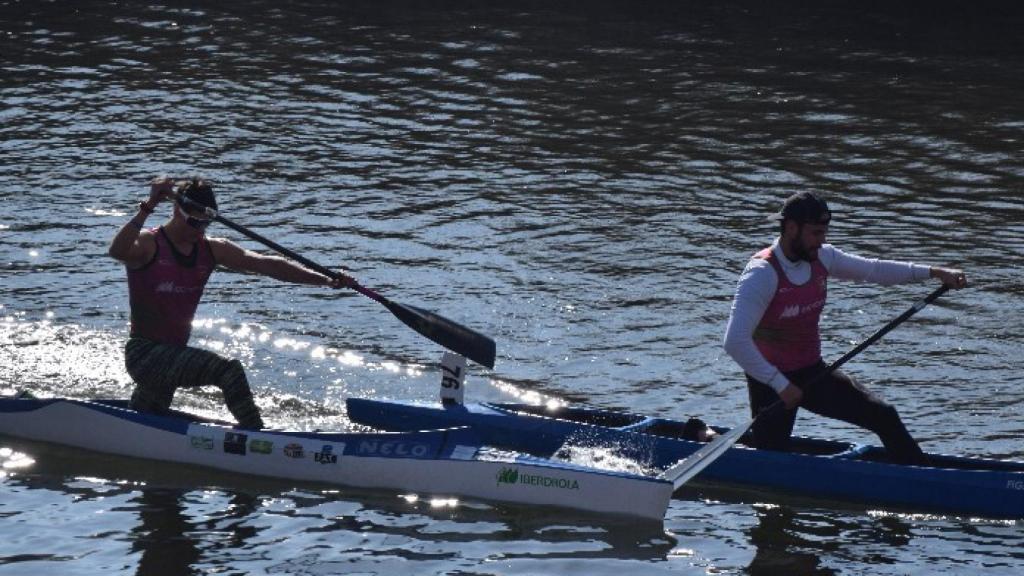
[[[205,238],[185,256],[175,251],[163,228],[153,231],[157,240],[153,260],[128,271],[131,335],[183,346],[216,262]]]

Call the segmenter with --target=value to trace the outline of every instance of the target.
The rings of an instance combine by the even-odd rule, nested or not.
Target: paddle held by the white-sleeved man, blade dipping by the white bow
[[[828,376],[837,369],[839,369],[840,366],[846,364],[848,360],[860,354],[867,346],[879,341],[883,336],[888,334],[893,328],[899,326],[904,321],[906,321],[906,319],[921,312],[922,308],[935,301],[935,299],[941,296],[942,294],[945,294],[946,290],[948,289],[949,287],[946,286],[945,284],[936,288],[931,294],[929,294],[924,299],[910,306],[903,314],[894,318],[892,321],[889,322],[889,324],[886,324],[878,332],[868,336],[866,340],[857,344],[857,346],[854,347],[852,351],[843,355],[843,357],[837,360],[836,362],[833,362],[828,366],[828,368],[825,368],[824,370],[821,371],[820,374],[814,376],[805,385],[805,387],[810,387],[823,380],[826,376]],[[783,406],[785,406],[785,404],[781,400],[775,402],[768,408],[762,410],[745,425],[740,425],[732,428],[731,430],[723,434],[722,436],[708,443],[706,446],[701,447],[699,450],[690,454],[683,460],[676,462],[672,467],[665,470],[665,472],[662,474],[662,477],[672,481],[673,485],[678,490],[680,486],[686,484],[687,481],[689,481],[694,476],[698,475],[700,470],[711,465],[711,463],[717,460],[720,456],[722,456],[722,454],[725,454],[726,451],[729,450],[729,448],[732,448],[732,445],[735,444],[736,441],[738,441],[741,436],[746,434],[746,430],[749,430],[751,426],[754,425],[754,422],[758,421],[758,418],[760,418],[764,414],[767,414],[768,412],[781,410]]]

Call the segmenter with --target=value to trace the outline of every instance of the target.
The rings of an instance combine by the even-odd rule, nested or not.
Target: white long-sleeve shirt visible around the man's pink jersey
[[[778,240],[771,246],[782,272],[790,282],[802,285],[811,279],[811,264],[804,260],[793,261],[779,248]],[[862,258],[824,244],[818,249],[818,260],[828,271],[829,278],[868,282],[883,286],[927,280],[929,266],[910,262]],[[778,275],[771,262],[764,258],[751,258],[736,284],[729,324],[725,329],[725,352],[739,364],[744,372],[781,393],[790,380],[768,360],[754,343],[754,330],[768,304],[775,297]]]

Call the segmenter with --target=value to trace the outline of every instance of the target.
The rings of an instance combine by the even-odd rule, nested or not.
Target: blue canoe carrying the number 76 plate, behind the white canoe
[[[347,404],[352,421],[375,428],[468,425],[489,445],[545,457],[566,444],[611,447],[664,469],[705,446],[683,438],[684,422],[597,409],[365,399]],[[797,437],[780,452],[750,448],[745,439],[697,480],[899,510],[1024,519],[1024,462],[929,454],[932,465],[913,466],[893,463],[884,448],[867,445]]]

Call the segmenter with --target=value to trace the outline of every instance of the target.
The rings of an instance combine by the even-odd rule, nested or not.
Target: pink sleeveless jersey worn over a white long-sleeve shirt
[[[771,248],[754,257],[768,260],[778,276],[775,295],[754,331],[754,343],[782,372],[815,364],[821,359],[818,321],[828,294],[828,271],[815,260],[811,262],[810,280],[798,286],[786,278]]]

